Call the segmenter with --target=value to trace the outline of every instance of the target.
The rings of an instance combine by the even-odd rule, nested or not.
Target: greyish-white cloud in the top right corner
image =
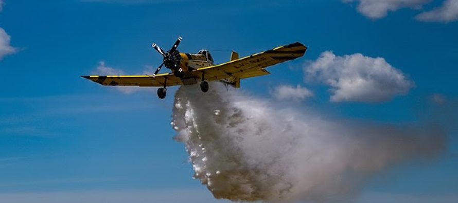
[[[458,20],[458,0],[446,0],[441,7],[418,14],[418,21],[451,22]]]

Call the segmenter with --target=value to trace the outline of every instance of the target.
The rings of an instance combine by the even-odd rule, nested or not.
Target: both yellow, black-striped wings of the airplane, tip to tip
[[[229,61],[226,63],[198,68],[191,72],[185,72],[183,79],[173,75],[173,73],[158,74],[152,76],[81,76],[102,85],[110,86],[175,86],[196,84],[197,79],[202,77],[207,81],[221,79],[243,79],[270,74],[264,68],[296,59],[304,56],[307,47],[296,42],[285,46],[273,48],[271,50],[252,54],[250,56]]]

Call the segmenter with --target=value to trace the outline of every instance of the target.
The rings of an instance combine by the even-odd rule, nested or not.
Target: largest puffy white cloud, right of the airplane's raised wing
[[[331,87],[332,102],[382,102],[405,95],[414,86],[385,59],[361,53],[340,57],[325,51],[304,67],[304,73],[306,81],[319,81]]]

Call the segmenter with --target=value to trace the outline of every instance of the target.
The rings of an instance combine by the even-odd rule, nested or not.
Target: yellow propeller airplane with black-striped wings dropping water
[[[304,56],[307,47],[299,42],[276,47],[267,51],[238,58],[232,51],[231,60],[215,65],[212,55],[205,49],[197,53],[183,53],[177,50],[181,42],[178,37],[172,48],[165,52],[161,47],[152,47],[163,56],[162,64],[153,75],[138,76],[81,76],[102,85],[108,86],[151,86],[157,89],[157,96],[165,98],[167,87],[175,85],[191,85],[200,82],[200,89],[208,91],[207,81],[221,81],[235,88],[240,87],[240,79],[270,74],[266,67]],[[172,72],[158,74],[165,66]]]

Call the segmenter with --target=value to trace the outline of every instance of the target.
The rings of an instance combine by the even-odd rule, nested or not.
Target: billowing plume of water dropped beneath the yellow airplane
[[[194,177],[216,198],[341,202],[380,170],[445,149],[436,127],[332,121],[211,85],[205,94],[180,87],[171,124]]]

